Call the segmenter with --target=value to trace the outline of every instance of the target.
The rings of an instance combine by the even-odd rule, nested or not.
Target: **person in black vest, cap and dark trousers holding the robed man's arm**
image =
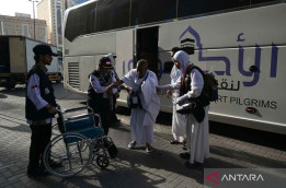
[[[102,127],[106,136],[112,111],[111,103],[115,92],[104,93],[105,87],[115,82],[111,69],[111,59],[107,57],[101,58],[98,70],[94,70],[89,77],[90,86],[88,91],[88,106],[101,116]]]

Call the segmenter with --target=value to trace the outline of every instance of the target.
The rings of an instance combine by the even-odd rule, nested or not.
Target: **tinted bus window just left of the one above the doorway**
[[[129,26],[129,0],[102,0],[96,9],[96,32]]]

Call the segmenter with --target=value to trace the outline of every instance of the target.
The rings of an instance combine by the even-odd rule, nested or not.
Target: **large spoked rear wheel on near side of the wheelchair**
[[[73,176],[82,172],[91,162],[90,145],[90,141],[77,132],[57,136],[45,150],[44,165],[55,176]]]

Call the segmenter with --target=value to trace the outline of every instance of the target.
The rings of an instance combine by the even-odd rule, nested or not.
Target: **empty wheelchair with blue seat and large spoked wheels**
[[[70,177],[81,173],[95,158],[102,169],[110,165],[110,157],[117,156],[117,149],[108,136],[104,134],[101,118],[89,107],[71,108],[61,111],[58,106],[57,124],[60,134],[45,149],[44,165],[58,177]],[[64,115],[89,109],[88,114]],[[95,126],[98,119],[98,126]]]

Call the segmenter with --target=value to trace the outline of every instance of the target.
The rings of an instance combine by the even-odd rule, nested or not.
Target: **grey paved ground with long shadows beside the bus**
[[[55,84],[64,108],[83,106],[84,97],[68,93]],[[210,158],[203,167],[187,169],[178,156],[181,145],[171,145],[171,115],[160,114],[155,126],[156,152],[144,148],[128,150],[130,139],[128,110],[122,109],[119,127],[110,136],[118,148],[118,157],[105,171],[95,162],[72,178],[26,176],[31,131],[24,119],[24,87],[0,89],[0,187],[203,187],[205,168],[286,168],[285,137],[210,122]]]

